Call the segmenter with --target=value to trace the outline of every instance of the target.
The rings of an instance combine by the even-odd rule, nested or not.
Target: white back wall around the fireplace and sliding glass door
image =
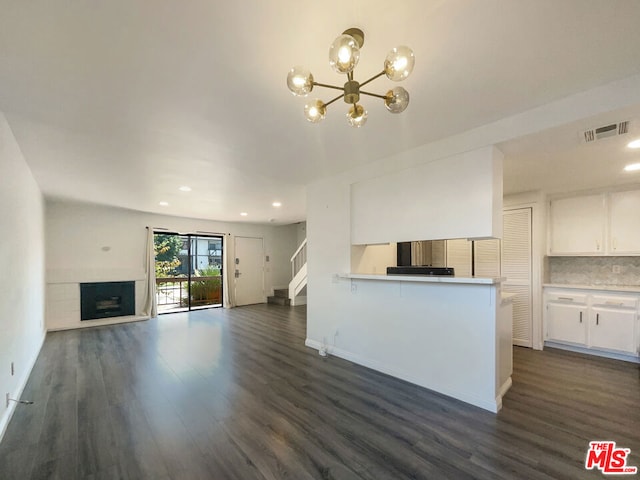
[[[87,322],[80,323],[80,282],[136,280],[136,290],[141,291],[147,226],[179,233],[225,234],[230,258],[234,236],[261,237],[265,256],[269,256],[266,295],[274,286],[289,283],[290,258],[297,247],[295,225],[224,223],[52,200],[46,205],[49,329],[87,326]],[[136,293],[136,315],[141,313],[141,301],[142,295]]]

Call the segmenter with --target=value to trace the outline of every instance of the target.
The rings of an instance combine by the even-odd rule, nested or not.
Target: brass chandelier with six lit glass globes
[[[364,33],[359,28],[349,28],[342,35],[334,40],[329,48],[329,65],[338,73],[347,75],[347,81],[341,87],[338,85],[328,85],[318,83],[313,75],[304,67],[293,67],[287,75],[287,86],[291,93],[299,97],[306,97],[311,93],[313,87],[332,88],[340,90],[341,93],[336,98],[323,102],[320,99],[313,99],[304,106],[304,114],[311,123],[318,123],[324,120],[327,107],[332,103],[344,99],[345,103],[351,105],[347,113],[347,120],[352,127],[361,127],[367,121],[367,111],[358,102],[360,95],[369,95],[384,100],[384,105],[391,113],[401,113],[409,105],[409,92],[402,87],[394,87],[386,95],[365,92],[362,87],[374,81],[382,75],[386,75],[390,80],[399,82],[409,76],[415,64],[413,50],[409,47],[400,46],[392,49],[385,58],[384,70],[374,75],[368,80],[360,83],[354,80],[353,70],[360,59],[360,49],[364,45]]]

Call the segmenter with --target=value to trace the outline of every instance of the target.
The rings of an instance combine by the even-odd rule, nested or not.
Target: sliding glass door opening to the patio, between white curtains
[[[222,306],[222,237],[155,233],[158,313]]]

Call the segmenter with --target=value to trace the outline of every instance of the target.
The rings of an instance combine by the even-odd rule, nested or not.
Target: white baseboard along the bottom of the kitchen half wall
[[[305,346],[313,348],[315,350],[320,350],[320,347],[322,347],[322,343],[316,341],[316,340],[312,340],[310,338],[307,338],[304,342]],[[492,413],[498,413],[498,411],[500,410],[500,407],[502,407],[502,396],[500,395],[500,403],[498,403],[498,398],[494,399],[493,401],[489,400],[485,400],[483,398],[479,398],[476,397],[475,395],[469,395],[466,392],[460,392],[457,391],[455,389],[452,388],[448,388],[448,387],[440,387],[439,389],[435,389],[432,386],[429,385],[425,385],[424,383],[422,383],[419,379],[412,377],[411,375],[407,375],[404,372],[399,372],[394,370],[393,368],[389,368],[388,366],[381,364],[378,361],[375,360],[371,360],[368,358],[364,358],[358,354],[352,353],[352,352],[348,352],[346,350],[341,350],[335,346],[331,346],[331,345],[325,345],[326,349],[327,349],[327,354],[328,356],[335,356],[335,357],[340,357],[344,360],[348,360],[350,362],[356,363],[358,365],[362,365],[363,367],[367,367],[367,368],[371,368],[372,370],[376,370],[378,372],[387,374],[387,375],[391,375],[392,377],[396,377],[399,378],[401,380],[404,380],[406,382],[409,383],[413,383],[414,385],[418,385],[422,388],[426,388],[427,390],[431,390],[433,392],[438,392],[441,393],[443,395],[447,395],[449,397],[455,398],[457,400],[461,400],[465,403],[469,403],[471,405],[474,405],[476,407],[480,407],[483,408],[485,410],[488,410]],[[507,380],[507,382],[511,382],[511,377],[509,377],[509,379]],[[505,384],[507,383],[505,382]],[[510,387],[511,385],[509,385]],[[504,387],[504,385],[503,385]],[[508,387],[507,387],[508,389]],[[506,391],[506,390],[505,390]]]

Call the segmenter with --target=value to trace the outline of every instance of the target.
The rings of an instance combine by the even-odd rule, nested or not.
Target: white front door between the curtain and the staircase
[[[264,303],[264,246],[262,238],[235,239],[236,305]]]

